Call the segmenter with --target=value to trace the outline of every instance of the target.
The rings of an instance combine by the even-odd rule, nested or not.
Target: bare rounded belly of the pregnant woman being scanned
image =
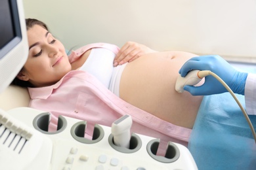
[[[177,126],[192,128],[202,96],[177,93],[175,82],[186,52],[146,54],[128,63],[121,76],[121,99]]]

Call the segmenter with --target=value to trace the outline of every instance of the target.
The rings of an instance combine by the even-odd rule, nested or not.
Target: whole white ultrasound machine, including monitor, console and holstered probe
[[[1,93],[28,56],[22,0],[0,1],[0,35]],[[57,131],[49,132],[50,118],[28,107],[0,109],[0,169],[198,169],[178,143],[170,141],[165,156],[157,156],[160,139],[130,133],[129,115],[112,127],[96,124],[92,140],[81,135],[86,121],[60,116]]]

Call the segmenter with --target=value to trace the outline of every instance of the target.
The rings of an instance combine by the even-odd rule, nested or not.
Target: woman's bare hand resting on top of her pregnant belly
[[[123,63],[126,62],[131,62],[140,56],[151,53],[151,52],[156,52],[155,50],[152,50],[151,48],[148,48],[147,46],[143,44],[139,44],[137,42],[126,42],[119,52],[116,55],[116,58],[114,59],[114,67],[117,65],[122,65]]]

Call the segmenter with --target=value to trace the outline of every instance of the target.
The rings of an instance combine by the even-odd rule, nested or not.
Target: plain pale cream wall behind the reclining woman
[[[23,0],[66,48],[127,41],[256,60],[255,0]]]

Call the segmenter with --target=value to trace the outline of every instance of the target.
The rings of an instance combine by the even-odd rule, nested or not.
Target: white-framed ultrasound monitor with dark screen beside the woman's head
[[[22,0],[0,0],[0,93],[11,84],[27,58]]]

